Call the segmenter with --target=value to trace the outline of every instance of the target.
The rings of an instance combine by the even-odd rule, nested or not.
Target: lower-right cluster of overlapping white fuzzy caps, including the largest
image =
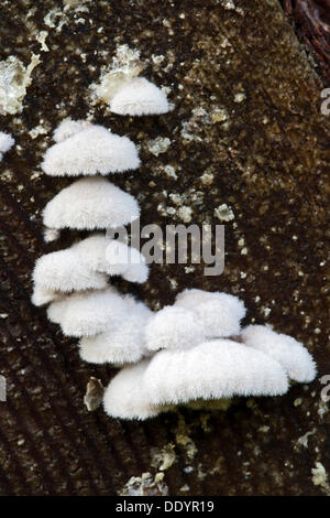
[[[144,347],[152,356],[111,380],[106,412],[144,420],[200,400],[280,396],[290,381],[315,378],[315,363],[300,343],[264,325],[241,328],[244,316],[235,296],[197,289],[179,293],[174,305],[146,322]],[[97,353],[88,359],[96,358]]]

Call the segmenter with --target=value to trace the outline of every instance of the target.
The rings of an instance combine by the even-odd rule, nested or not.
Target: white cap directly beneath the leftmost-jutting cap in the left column
[[[94,336],[118,327],[128,316],[130,305],[113,288],[74,293],[52,302],[47,315],[59,324],[66,336]]]

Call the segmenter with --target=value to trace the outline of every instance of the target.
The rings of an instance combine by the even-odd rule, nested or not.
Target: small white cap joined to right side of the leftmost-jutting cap
[[[129,282],[143,283],[148,278],[148,267],[142,253],[118,240],[108,240],[105,271],[109,276],[122,276]]]

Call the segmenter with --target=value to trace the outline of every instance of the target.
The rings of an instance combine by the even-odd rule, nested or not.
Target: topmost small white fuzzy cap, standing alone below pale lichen
[[[117,91],[110,110],[118,115],[160,115],[169,110],[165,94],[144,77],[134,77]]]

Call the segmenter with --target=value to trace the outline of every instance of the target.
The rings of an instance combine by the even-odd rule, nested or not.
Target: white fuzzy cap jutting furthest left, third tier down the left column
[[[59,250],[37,259],[33,281],[46,290],[70,292],[107,287],[108,276],[92,271],[75,248]]]

